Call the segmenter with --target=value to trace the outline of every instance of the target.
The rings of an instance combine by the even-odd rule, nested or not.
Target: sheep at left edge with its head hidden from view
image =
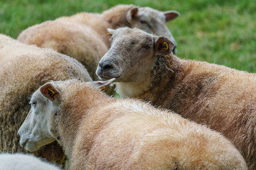
[[[16,134],[28,114],[29,97],[39,86],[50,80],[92,81],[77,60],[2,34],[0,65],[0,152],[26,152]],[[57,142],[35,154],[53,162],[63,157]]]

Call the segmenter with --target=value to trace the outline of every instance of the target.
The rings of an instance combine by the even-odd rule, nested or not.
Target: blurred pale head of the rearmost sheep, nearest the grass
[[[176,41],[174,36],[166,27],[166,22],[173,20],[179,16],[177,11],[157,11],[153,8],[134,7],[127,13],[127,21],[131,24],[132,28],[139,28],[147,33],[153,33],[154,35],[163,35],[169,38],[174,43],[174,54],[176,53]]]

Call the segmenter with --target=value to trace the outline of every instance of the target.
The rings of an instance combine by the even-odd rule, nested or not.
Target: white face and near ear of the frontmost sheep
[[[31,110],[18,130],[21,147],[34,152],[55,140],[56,134],[51,123],[53,115],[58,112],[58,101],[55,100],[58,95],[58,90],[50,84],[42,86],[33,94]]]

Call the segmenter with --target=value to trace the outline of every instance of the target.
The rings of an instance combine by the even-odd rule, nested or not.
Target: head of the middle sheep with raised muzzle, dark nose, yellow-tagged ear
[[[96,74],[100,79],[119,82],[143,82],[149,77],[159,55],[169,54],[174,43],[163,36],[137,28],[108,29],[112,34],[110,50],[100,60]]]

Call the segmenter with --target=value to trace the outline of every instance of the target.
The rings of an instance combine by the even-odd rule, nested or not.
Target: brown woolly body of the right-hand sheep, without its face
[[[142,84],[149,89],[134,97],[221,132],[249,169],[256,169],[256,75],[174,55],[162,60],[174,73],[160,64],[152,70],[150,84]],[[127,89],[126,83],[117,83],[118,89]]]

